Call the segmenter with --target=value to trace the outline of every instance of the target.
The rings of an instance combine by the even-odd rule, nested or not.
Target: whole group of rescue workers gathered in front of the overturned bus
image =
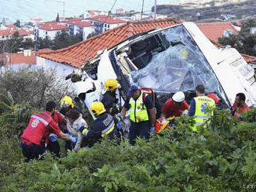
[[[130,118],[129,142],[134,145],[137,137],[149,139],[150,132],[168,128],[170,123],[175,122],[175,117],[181,115],[194,117],[192,130],[197,132],[213,115],[213,110],[209,108],[221,106],[218,105],[220,98],[214,93],[206,95],[205,87],[199,84],[195,87],[196,97],[192,98],[190,105],[185,101],[185,94],[178,91],[165,102],[161,108],[161,117],[156,119],[154,95],[150,94],[150,91],[131,85],[123,107],[118,108],[118,88],[118,81],[106,81],[106,93],[103,94],[102,100],[94,101],[90,107],[95,117],[91,128],[88,128],[79,108],[74,106],[72,98],[65,96],[61,99],[60,111],[56,110],[57,104],[54,101],[48,101],[44,112],[31,115],[29,125],[21,136],[20,146],[26,157],[25,162],[41,159],[46,151],[60,156],[61,147],[57,139],[65,140],[66,151],[70,149],[76,152],[83,147],[93,146],[105,136],[119,140],[122,138],[122,123],[127,118],[127,111],[130,111],[127,115]],[[245,110],[250,108],[245,103],[245,95],[239,93],[236,95],[231,114],[241,118],[240,114]]]

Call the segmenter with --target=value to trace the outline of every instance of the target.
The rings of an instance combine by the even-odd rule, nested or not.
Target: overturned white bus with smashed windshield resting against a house
[[[162,106],[177,91],[190,103],[195,87],[216,93],[230,108],[237,93],[256,107],[254,69],[230,46],[216,47],[193,22],[139,33],[99,53],[94,60],[69,75],[78,98],[89,108],[100,101],[110,78],[119,81],[119,107],[131,84],[153,87]],[[68,77],[67,77],[68,78]]]

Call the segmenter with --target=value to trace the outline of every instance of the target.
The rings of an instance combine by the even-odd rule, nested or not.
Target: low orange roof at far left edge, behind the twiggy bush
[[[6,56],[9,56],[9,61],[6,60]],[[36,56],[33,53],[31,53],[30,56],[24,56],[23,53],[3,53],[1,57],[3,58],[5,65],[19,63],[36,64]]]

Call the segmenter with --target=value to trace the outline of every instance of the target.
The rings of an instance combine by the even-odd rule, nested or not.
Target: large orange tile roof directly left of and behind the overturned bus
[[[81,67],[81,65],[92,60],[99,50],[105,50],[115,46],[117,43],[137,33],[146,32],[156,27],[165,28],[178,23],[180,22],[174,18],[130,21],[122,26],[110,29],[109,31],[61,50],[39,50],[37,56],[47,60],[54,60],[57,63],[66,63],[72,67]]]

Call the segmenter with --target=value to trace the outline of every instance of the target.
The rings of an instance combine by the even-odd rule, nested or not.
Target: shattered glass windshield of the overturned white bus
[[[149,62],[146,67],[127,74],[130,83],[154,87],[155,91],[162,93],[194,91],[198,84],[204,84],[206,92],[218,93],[225,99],[213,70],[185,27],[175,26],[160,33],[157,36],[161,37],[165,50],[157,53],[147,50]]]

